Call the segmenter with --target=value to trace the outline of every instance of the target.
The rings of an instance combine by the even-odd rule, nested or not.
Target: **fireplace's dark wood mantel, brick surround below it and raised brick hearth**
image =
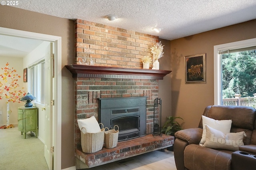
[[[158,81],[170,73],[165,70],[126,69],[91,65],[66,65],[75,83],[76,168],[91,168],[172,146],[174,136],[153,136],[154,99]],[[100,77],[100,78],[99,78]],[[146,136],[118,142],[117,147],[87,154],[82,152],[77,119],[92,115],[98,118],[98,99],[113,97],[146,97]]]

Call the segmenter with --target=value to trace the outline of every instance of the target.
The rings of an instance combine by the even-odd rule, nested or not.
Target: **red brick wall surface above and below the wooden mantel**
[[[150,55],[150,47],[158,37],[114,28],[84,20],[75,22],[75,62],[92,57],[95,65],[142,68],[140,59]],[[158,80],[118,78],[75,78],[75,147],[80,147],[81,136],[77,119],[94,115],[98,120],[98,98],[147,98],[147,134],[152,134],[154,99],[158,97]]]

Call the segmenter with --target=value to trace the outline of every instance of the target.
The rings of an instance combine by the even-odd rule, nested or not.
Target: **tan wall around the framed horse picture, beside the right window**
[[[171,41],[172,115],[183,128],[198,127],[204,108],[214,105],[214,45],[256,38],[256,20]],[[206,53],[206,84],[185,84],[184,56]]]

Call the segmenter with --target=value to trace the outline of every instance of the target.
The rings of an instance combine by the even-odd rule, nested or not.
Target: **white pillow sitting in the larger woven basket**
[[[101,132],[98,121],[94,116],[87,119],[78,119],[78,126],[83,133],[98,133]],[[86,130],[84,130],[84,127]]]

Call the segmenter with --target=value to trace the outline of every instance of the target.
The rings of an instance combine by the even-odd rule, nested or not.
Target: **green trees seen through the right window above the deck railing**
[[[222,58],[222,99],[256,93],[256,46],[219,51]]]

